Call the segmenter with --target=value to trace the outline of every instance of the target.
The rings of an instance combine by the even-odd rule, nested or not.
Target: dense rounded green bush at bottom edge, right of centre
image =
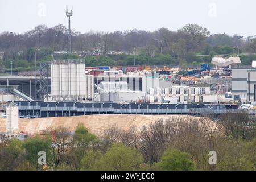
[[[162,155],[160,162],[156,163],[162,170],[167,171],[192,171],[195,170],[195,163],[191,155],[176,149],[169,149]]]

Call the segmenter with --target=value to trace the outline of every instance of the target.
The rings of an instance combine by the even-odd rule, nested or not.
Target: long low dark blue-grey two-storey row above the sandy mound
[[[75,102],[75,101],[16,101],[19,115],[61,117],[90,114],[221,114],[237,110],[230,104],[118,104],[116,102]]]

